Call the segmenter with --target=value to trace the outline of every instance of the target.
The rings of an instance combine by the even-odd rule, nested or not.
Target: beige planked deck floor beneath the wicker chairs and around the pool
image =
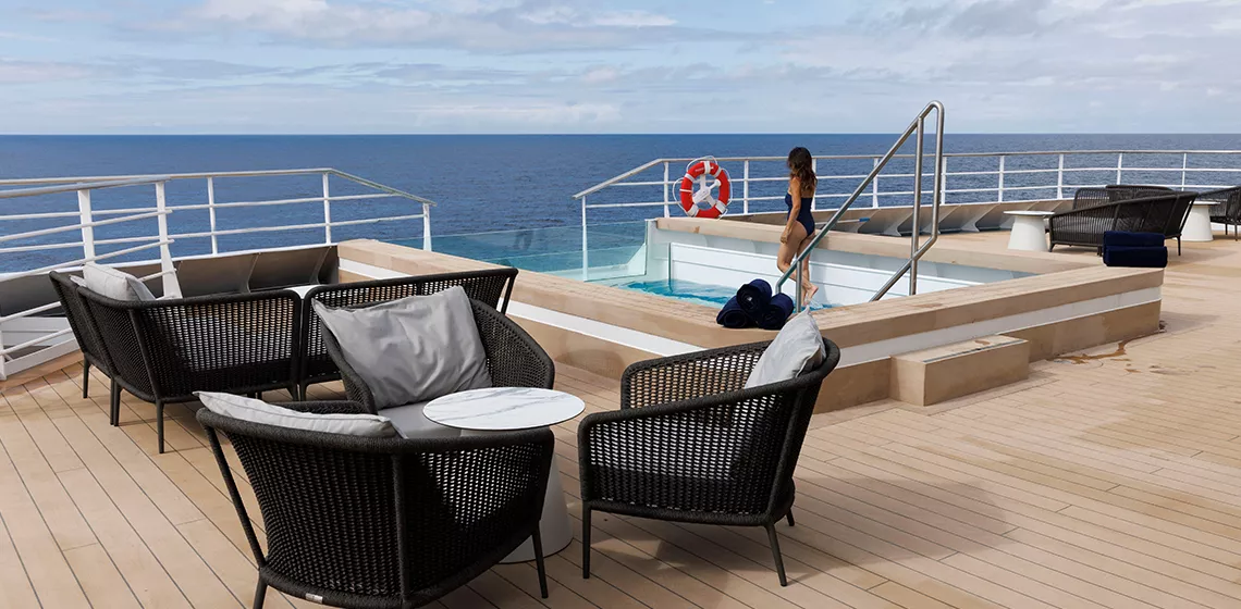
[[[547,562],[546,602],[517,564],[436,607],[1241,607],[1239,278],[1241,246],[1186,244],[1165,334],[934,409],[817,418],[797,527],[779,526],[788,588],[761,528],[598,515],[594,578],[575,542]],[[155,455],[154,408],[127,399],[109,427],[104,378],[82,399],[79,370],[65,358],[0,393],[0,605],[248,605],[254,568],[189,411]],[[558,378],[616,408],[616,382]],[[556,433],[576,517],[575,428]]]

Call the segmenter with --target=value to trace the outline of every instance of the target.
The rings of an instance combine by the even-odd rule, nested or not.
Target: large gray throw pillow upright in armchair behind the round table
[[[376,408],[491,386],[474,310],[459,285],[365,309],[315,301],[314,310],[371,389]]]

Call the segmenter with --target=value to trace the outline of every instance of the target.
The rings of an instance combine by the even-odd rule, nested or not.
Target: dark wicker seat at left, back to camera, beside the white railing
[[[102,339],[113,381],[155,404],[159,451],[164,406],[192,402],[196,391],[297,393],[298,320],[294,291],[122,301],[78,288]],[[119,391],[112,424],[119,424]]]

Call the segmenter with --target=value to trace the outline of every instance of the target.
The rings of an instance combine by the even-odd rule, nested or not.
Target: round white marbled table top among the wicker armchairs
[[[555,425],[577,417],[577,396],[530,387],[463,391],[431,401],[422,413],[441,425],[475,432],[510,432]]]

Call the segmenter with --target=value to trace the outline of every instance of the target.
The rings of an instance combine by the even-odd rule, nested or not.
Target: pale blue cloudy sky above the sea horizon
[[[0,0],[0,133],[1241,133],[1241,0]]]

